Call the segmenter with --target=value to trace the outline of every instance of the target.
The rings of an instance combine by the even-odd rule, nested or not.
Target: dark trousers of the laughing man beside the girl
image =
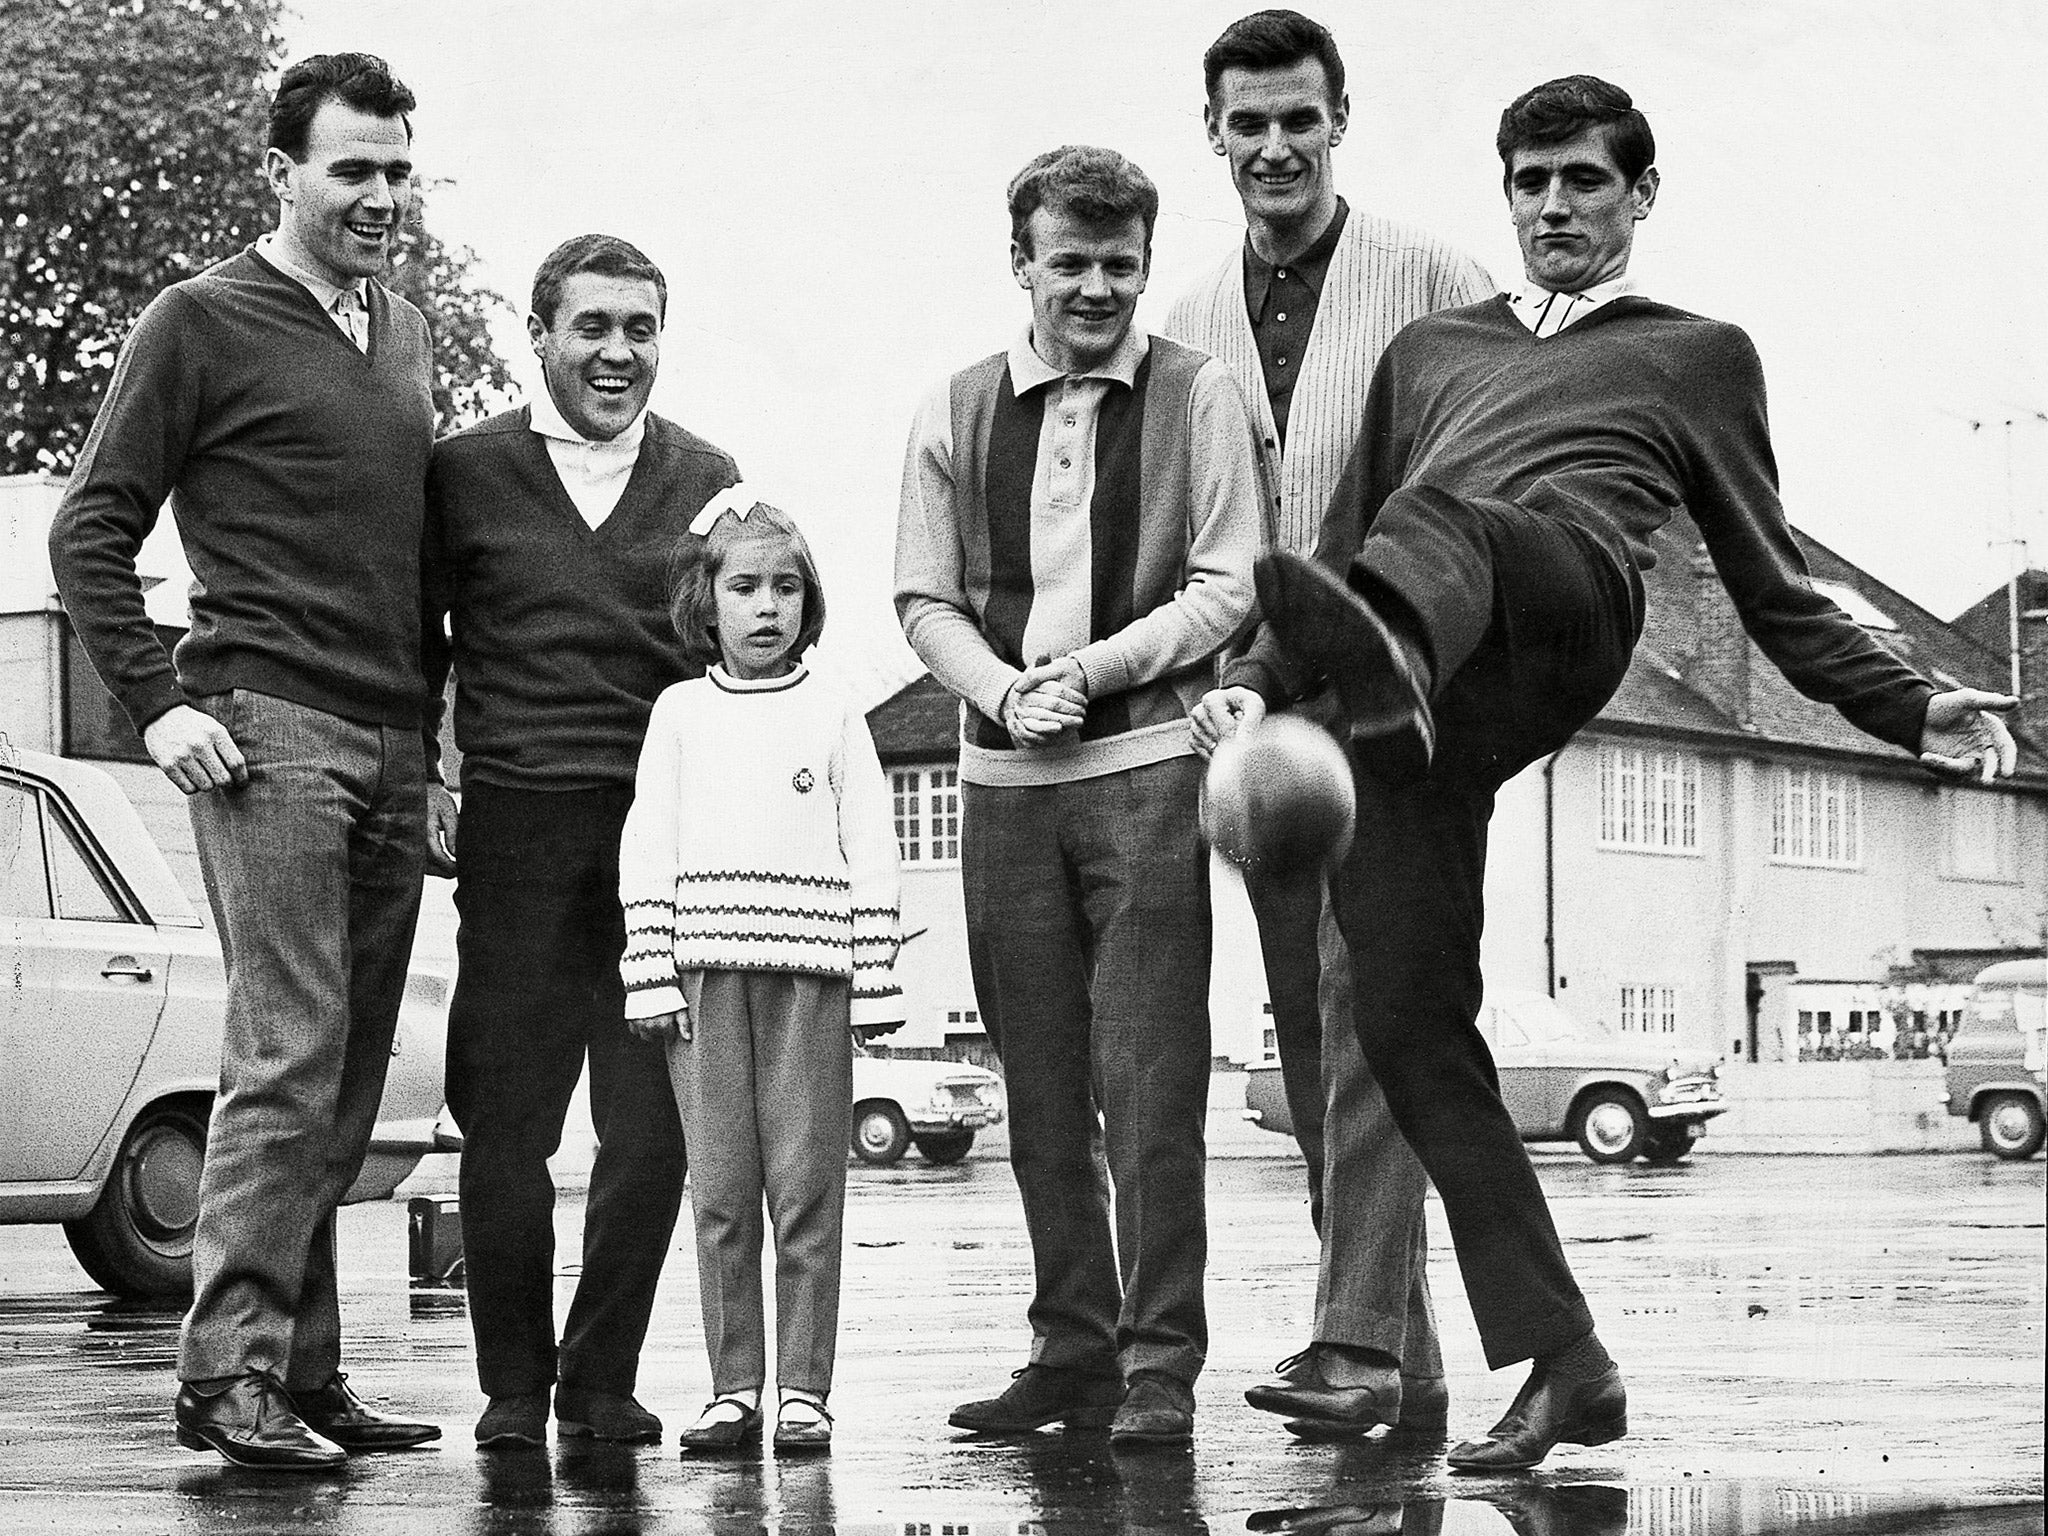
[[[668,1059],[625,1026],[618,831],[631,788],[463,795],[449,1010],[449,1110],[463,1128],[463,1255],[485,1395],[553,1380],[631,1393],[682,1206]],[[590,1061],[598,1157],[584,1270],[555,1348],[555,1184],[569,1096]]]

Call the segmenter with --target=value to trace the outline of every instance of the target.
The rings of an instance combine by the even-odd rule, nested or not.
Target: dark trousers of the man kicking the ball
[[[1444,1200],[1487,1364],[1593,1325],[1479,1034],[1479,934],[1495,791],[1608,700],[1640,586],[1585,530],[1509,502],[1403,489],[1350,571],[1419,623],[1436,659],[1425,780],[1358,774],[1358,840],[1331,883],[1358,1040]]]

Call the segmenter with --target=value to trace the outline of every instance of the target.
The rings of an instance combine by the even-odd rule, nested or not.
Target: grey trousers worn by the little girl
[[[831,1391],[846,1147],[854,1130],[850,983],[686,971],[690,1038],[668,1073],[690,1147],[690,1212],[711,1391],[768,1380],[762,1202],[774,1225],[776,1384]]]

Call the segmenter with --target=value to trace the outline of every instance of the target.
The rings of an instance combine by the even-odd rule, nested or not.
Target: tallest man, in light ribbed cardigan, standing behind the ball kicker
[[[1174,303],[1165,332],[1231,365],[1260,428],[1272,547],[1300,553],[1315,545],[1386,342],[1495,289],[1462,252],[1337,197],[1331,152],[1350,98],[1321,25],[1294,10],[1235,20],[1202,57],[1202,80],[1208,143],[1243,201],[1245,244]],[[1229,729],[1196,707],[1198,750]],[[1247,889],[1321,1266],[1309,1348],[1245,1397],[1300,1434],[1440,1430],[1448,1395],[1425,1278],[1427,1180],[1358,1051],[1323,881],[1253,870]]]

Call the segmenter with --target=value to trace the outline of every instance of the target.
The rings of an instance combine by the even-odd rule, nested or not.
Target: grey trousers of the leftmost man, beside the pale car
[[[334,1208],[377,1124],[420,915],[420,731],[244,688],[197,702],[250,778],[188,801],[227,1018],[178,1376],[311,1391],[342,1362]]]

